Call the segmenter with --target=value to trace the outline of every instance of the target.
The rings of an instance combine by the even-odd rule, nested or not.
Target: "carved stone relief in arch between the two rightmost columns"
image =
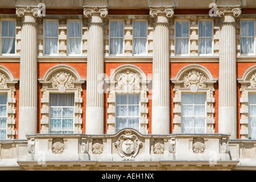
[[[205,81],[207,81],[206,76],[195,69],[186,72],[183,77],[183,87],[190,88],[191,86],[198,86],[199,88],[206,88]]]

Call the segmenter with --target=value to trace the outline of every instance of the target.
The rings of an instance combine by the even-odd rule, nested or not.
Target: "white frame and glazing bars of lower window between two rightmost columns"
[[[193,94],[193,101],[194,101],[194,95],[195,94],[204,94],[205,96],[206,96],[206,93],[205,92],[197,92],[197,93],[190,93],[190,92],[182,92],[181,93],[181,95],[183,95],[183,94]],[[182,96],[181,96],[182,97]],[[194,113],[194,106],[195,105],[200,105],[200,106],[202,106],[202,104],[182,104],[182,102],[181,102],[181,106],[183,106],[183,105],[192,105],[193,106],[193,113]],[[202,133],[202,134],[205,134],[206,133],[206,97],[205,97],[205,104],[204,104],[204,106],[205,106],[205,115],[203,115],[203,116],[198,116],[198,115],[186,115],[186,116],[183,116],[182,114],[181,114],[181,121],[182,121],[182,118],[183,117],[193,117],[193,127],[186,127],[186,128],[188,128],[188,129],[202,129],[201,127],[194,127],[194,117],[204,117],[204,119],[205,119],[205,126],[203,127],[203,129],[204,129],[204,133]],[[181,107],[182,108],[182,107]],[[182,112],[182,110],[181,110],[181,113],[183,113]],[[182,127],[182,125],[183,125],[183,123],[181,123],[181,128],[183,129],[183,127]],[[183,131],[182,131],[182,133],[183,133]],[[194,133],[193,132],[193,134],[198,134],[198,133]],[[200,133],[201,134],[201,133]]]

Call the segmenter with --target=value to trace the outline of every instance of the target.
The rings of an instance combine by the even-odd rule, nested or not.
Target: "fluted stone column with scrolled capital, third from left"
[[[169,18],[173,9],[151,7],[154,18],[152,134],[170,133]]]

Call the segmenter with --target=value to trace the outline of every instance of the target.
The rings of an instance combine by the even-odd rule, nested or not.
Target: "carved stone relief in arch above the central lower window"
[[[141,81],[141,77],[139,77],[138,73],[130,71],[130,69],[126,69],[117,75],[117,85],[116,89],[124,89],[126,91],[131,91],[133,89],[141,88],[139,82]]]

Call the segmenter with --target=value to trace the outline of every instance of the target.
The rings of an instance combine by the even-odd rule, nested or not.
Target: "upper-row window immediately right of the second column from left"
[[[110,54],[123,53],[123,22],[110,22]]]

